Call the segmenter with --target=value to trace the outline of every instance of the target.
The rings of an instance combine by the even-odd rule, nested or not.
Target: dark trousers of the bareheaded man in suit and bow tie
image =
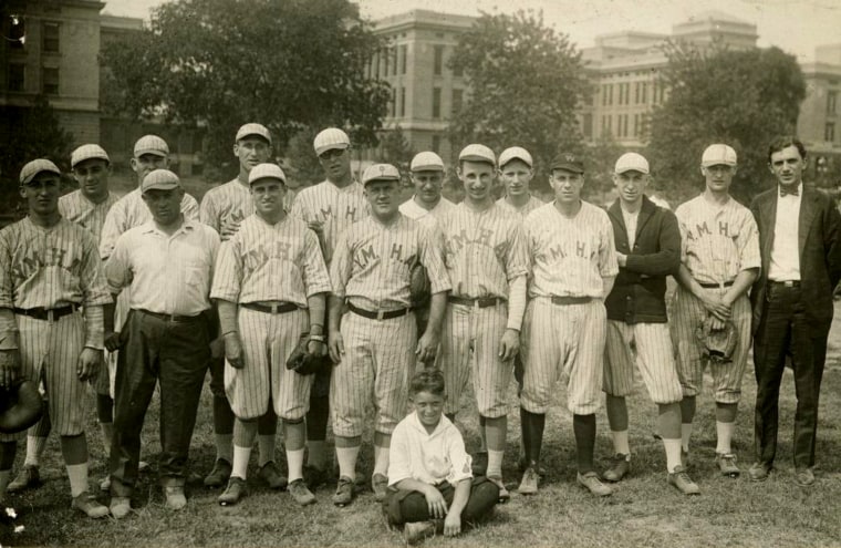
[[[765,312],[754,338],[757,381],[754,443],[757,462],[770,465],[777,453],[780,381],[790,355],[795,373],[795,466],[814,465],[818,399],[827,358],[826,330],[807,321],[800,288],[769,283]]]

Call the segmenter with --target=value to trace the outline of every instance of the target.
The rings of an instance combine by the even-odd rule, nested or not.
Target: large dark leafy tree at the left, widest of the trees
[[[153,10],[147,30],[104,49],[104,106],[206,126],[217,165],[252,121],[278,149],[328,125],[375,144],[388,90],[364,69],[380,45],[349,0],[175,0]]]

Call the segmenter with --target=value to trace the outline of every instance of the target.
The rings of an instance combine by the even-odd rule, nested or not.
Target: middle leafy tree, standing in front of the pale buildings
[[[539,166],[560,149],[581,152],[575,107],[589,92],[581,53],[543,24],[542,12],[482,14],[449,65],[470,87],[449,125],[456,152],[471,142],[496,151],[517,145]]]

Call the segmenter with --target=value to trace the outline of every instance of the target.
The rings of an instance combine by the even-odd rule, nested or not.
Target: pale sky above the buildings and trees
[[[147,18],[168,0],[106,0],[105,13]],[[599,34],[624,30],[668,34],[672,25],[706,11],[719,11],[757,25],[758,45],[777,45],[800,62],[814,61],[814,48],[841,43],[838,0],[359,0],[362,14],[378,19],[413,9],[478,15],[480,12],[542,10],[543,20],[579,48]]]

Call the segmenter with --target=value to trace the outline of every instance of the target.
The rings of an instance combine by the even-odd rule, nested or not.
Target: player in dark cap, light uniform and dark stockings
[[[604,298],[619,272],[608,214],[581,199],[584,166],[573,154],[557,156],[550,184],[554,201],[526,218],[531,258],[529,304],[522,323],[526,364],[520,413],[528,467],[520,488],[537,488],[546,413],[559,379],[567,383],[578,483],[593,495],[613,493],[593,466],[595,412],[601,400],[606,318]]]

